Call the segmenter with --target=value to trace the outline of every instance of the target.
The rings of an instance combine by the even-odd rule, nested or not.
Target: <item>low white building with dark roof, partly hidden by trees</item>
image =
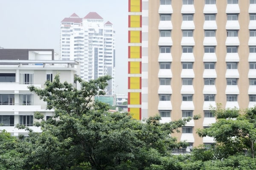
[[[27,135],[25,130],[15,128],[16,124],[24,124],[41,132],[40,127],[33,126],[34,113],[41,112],[46,120],[54,110],[46,110],[46,103],[27,87],[44,88],[45,81],[52,81],[57,74],[61,82],[76,86],[74,76],[80,74],[79,62],[58,60],[52,49],[0,49],[0,130],[14,136]]]

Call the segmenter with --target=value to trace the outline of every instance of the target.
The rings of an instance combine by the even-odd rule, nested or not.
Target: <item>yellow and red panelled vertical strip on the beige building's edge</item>
[[[128,0],[128,112],[141,119],[142,0]]]

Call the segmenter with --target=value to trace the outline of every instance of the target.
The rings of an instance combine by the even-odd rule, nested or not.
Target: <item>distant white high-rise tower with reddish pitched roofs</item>
[[[107,95],[113,95],[115,78],[115,31],[111,22],[96,12],[84,18],[72,14],[61,21],[60,51],[62,60],[81,63],[81,78],[85,81],[111,75]]]

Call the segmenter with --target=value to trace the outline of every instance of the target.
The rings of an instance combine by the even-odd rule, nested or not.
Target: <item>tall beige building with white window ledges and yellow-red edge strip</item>
[[[211,144],[209,107],[256,104],[256,0],[128,0],[128,111],[163,122],[201,114],[175,136]]]

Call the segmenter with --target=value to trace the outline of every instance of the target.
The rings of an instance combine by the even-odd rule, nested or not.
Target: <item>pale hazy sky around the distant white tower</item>
[[[127,93],[128,0],[0,0],[0,46],[59,53],[61,20],[89,12],[97,12],[116,30],[116,92]]]

